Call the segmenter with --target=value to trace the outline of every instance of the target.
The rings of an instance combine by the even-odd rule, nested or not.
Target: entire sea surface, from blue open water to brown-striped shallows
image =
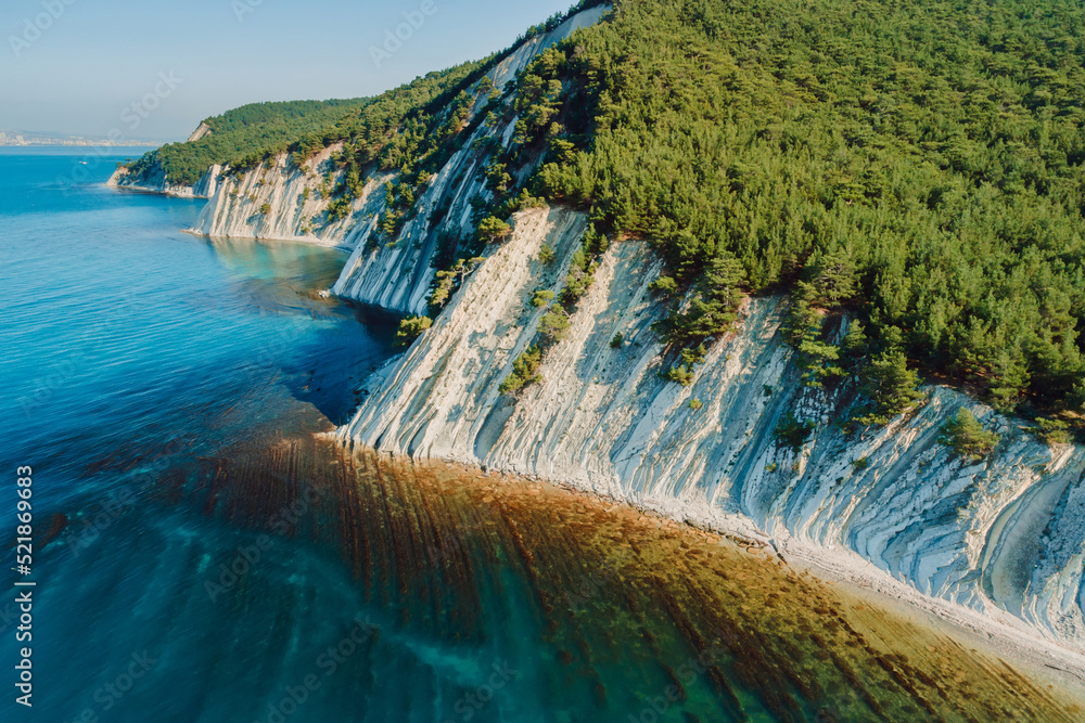
[[[0,719],[1085,715],[744,541],[315,436],[391,353],[316,294],[343,255],[187,236],[197,203],[72,163],[0,155],[0,468],[40,505],[35,708]]]

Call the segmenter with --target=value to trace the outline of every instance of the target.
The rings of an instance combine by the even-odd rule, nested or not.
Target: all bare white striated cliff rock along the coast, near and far
[[[602,12],[584,11],[525,42],[490,80],[502,87]],[[509,127],[485,132],[506,145],[511,138]],[[192,231],[350,248],[332,293],[424,313],[441,235],[472,232],[474,206],[492,198],[478,173],[485,157],[472,151],[476,140],[467,139],[433,175],[393,243],[374,234],[385,210],[383,176],[369,179],[346,216],[310,225],[327,205],[312,189],[335,147],[306,168],[282,156],[219,183]],[[433,327],[367,382],[371,393],[339,438],[561,481],[771,540],[784,556],[840,567],[845,578],[869,573],[871,585],[917,605],[1085,653],[1085,449],[1048,446],[1020,421],[934,385],[912,413],[846,434],[834,421],[855,402],[854,379],[829,389],[802,384],[779,334],[781,298],[749,300],[737,332],[680,386],[661,377],[668,361],[652,331],[662,308],[648,291],[660,268],[650,244],[612,243],[567,337],[542,360],[541,383],[515,398],[500,393],[513,361],[537,338],[545,309],[531,304],[533,294],[560,293],[586,224],[565,208],[518,214],[511,237],[486,250]],[[544,246],[550,262],[540,259]],[[1000,436],[981,462],[955,459],[937,442],[940,427],[962,408]],[[794,448],[774,438],[788,415],[810,425]]]

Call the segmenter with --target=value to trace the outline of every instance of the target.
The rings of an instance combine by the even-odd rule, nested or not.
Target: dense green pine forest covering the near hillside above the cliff
[[[1050,0],[618,0],[560,49],[588,111],[536,192],[655,242],[663,291],[693,292],[684,346],[727,328],[740,274],[792,294],[812,383],[896,366],[866,377],[882,412],[908,403],[878,399],[905,358],[1004,409],[1076,410],[1083,29]],[[847,348],[821,336],[841,311]]]

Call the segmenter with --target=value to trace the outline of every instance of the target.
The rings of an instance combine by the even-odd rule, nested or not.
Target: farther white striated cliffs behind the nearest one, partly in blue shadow
[[[494,87],[503,88],[545,49],[573,30],[596,23],[608,11],[607,7],[585,10],[550,33],[524,41],[487,74]],[[477,86],[472,90],[477,93]],[[485,95],[477,94],[469,120],[486,104]],[[332,293],[404,314],[424,313],[435,274],[433,263],[442,243],[472,234],[476,220],[472,219],[472,199],[493,198],[481,173],[483,158],[473,143],[495,138],[508,147],[515,121],[513,118],[498,128],[480,125],[419,194],[417,212],[405,221],[394,243],[379,242],[375,233],[385,210],[383,184],[394,175],[371,179],[346,218],[331,224],[315,220],[328,206],[317,189],[329,168],[328,158],[340,146],[328,149],[308,162],[305,169],[290,166],[286,157],[280,156],[269,167],[224,181],[192,231],[208,236],[283,238],[352,249]],[[334,186],[339,180],[333,177],[329,185]],[[308,197],[304,195],[306,189]],[[264,204],[269,205],[267,214],[259,211]]]

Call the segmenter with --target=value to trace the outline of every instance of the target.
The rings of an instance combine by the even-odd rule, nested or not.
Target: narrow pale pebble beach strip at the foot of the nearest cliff
[[[317,436],[333,438],[331,432],[317,432]],[[1075,702],[1085,708],[1085,655],[1044,640],[1022,627],[923,595],[851,551],[827,551],[802,543],[790,535],[767,534],[746,518],[718,511],[714,515],[697,515],[695,511],[681,508],[679,516],[675,514],[676,509],[668,509],[668,505],[656,505],[650,501],[638,503],[573,482],[486,469],[457,460],[404,460],[390,453],[383,453],[382,456],[418,466],[437,463],[460,469],[464,474],[481,474],[501,483],[545,486],[574,494],[584,504],[595,505],[607,514],[635,511],[642,521],[659,529],[677,529],[701,540],[731,544],[750,555],[767,553],[782,565],[806,572],[820,584],[854,598],[859,609],[865,605],[878,607],[935,634],[948,635],[966,643],[973,653],[993,656],[1027,671],[1037,683],[1057,686],[1063,695],[1076,698]],[[828,553],[839,554],[840,557],[831,559]]]

